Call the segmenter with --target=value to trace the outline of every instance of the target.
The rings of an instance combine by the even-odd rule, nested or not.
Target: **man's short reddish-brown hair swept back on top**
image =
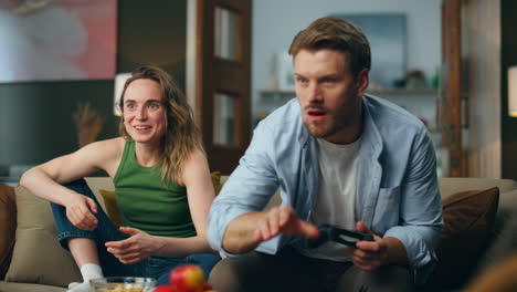
[[[319,18],[298,32],[289,46],[295,58],[300,50],[330,49],[348,55],[354,75],[371,67],[370,43],[359,27],[340,18]]]

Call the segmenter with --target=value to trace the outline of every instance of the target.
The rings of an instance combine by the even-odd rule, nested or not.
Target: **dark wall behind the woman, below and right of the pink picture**
[[[118,1],[117,72],[151,63],[184,88],[187,0]],[[116,137],[113,80],[0,84],[0,166],[35,165],[77,149],[73,113],[89,102]],[[2,176],[0,174],[0,176]]]

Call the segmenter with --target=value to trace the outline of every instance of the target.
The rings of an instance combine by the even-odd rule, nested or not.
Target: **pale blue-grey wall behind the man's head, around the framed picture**
[[[252,36],[253,113],[268,86],[272,54],[287,51],[294,35],[313,20],[337,13],[405,13],[408,70],[432,77],[441,59],[441,0],[254,0]]]

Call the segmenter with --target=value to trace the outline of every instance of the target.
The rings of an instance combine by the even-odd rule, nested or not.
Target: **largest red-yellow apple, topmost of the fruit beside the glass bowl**
[[[198,265],[181,265],[170,272],[169,281],[176,292],[202,292],[204,273]]]

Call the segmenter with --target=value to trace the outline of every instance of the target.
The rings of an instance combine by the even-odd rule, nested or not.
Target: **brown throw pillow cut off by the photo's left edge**
[[[14,189],[0,182],[0,280],[9,268],[17,231]]]

